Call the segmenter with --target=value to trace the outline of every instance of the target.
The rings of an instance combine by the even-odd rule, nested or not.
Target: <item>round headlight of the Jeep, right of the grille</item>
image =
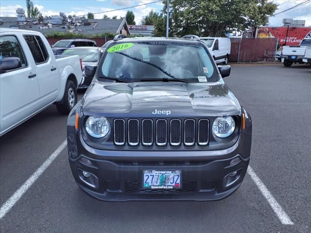
[[[217,137],[228,137],[235,129],[235,121],[231,116],[219,116],[213,122],[212,130]]]

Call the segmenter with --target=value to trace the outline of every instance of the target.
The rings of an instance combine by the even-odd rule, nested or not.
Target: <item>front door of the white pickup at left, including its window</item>
[[[0,74],[0,135],[22,123],[38,111],[40,101],[35,63],[23,37],[0,36],[0,59],[18,57],[21,67]],[[23,48],[23,49],[22,49]]]

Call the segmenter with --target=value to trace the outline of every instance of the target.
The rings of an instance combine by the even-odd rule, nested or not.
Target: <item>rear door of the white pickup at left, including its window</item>
[[[40,106],[45,107],[56,100],[59,92],[60,79],[56,60],[45,38],[38,34],[25,34],[24,38],[35,60]]]

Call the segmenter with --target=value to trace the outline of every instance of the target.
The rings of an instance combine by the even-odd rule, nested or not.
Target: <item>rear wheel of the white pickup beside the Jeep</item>
[[[71,80],[68,80],[65,87],[64,97],[61,101],[62,104],[57,104],[56,108],[59,113],[68,115],[74,105],[76,105],[77,101],[77,87]]]

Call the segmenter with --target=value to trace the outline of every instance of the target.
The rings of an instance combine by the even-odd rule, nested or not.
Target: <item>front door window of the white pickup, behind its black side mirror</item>
[[[5,57],[18,57],[21,67],[27,67],[27,62],[23,51],[14,35],[0,37],[0,60]]]

